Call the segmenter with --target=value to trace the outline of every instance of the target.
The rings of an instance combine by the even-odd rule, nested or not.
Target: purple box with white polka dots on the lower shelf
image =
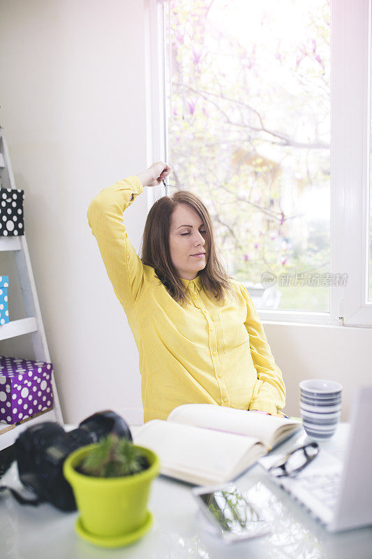
[[[0,423],[17,423],[53,406],[52,363],[0,356]]]

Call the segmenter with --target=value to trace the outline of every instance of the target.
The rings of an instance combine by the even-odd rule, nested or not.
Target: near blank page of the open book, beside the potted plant
[[[174,474],[185,481],[194,479],[195,483],[197,479],[213,483],[228,481],[233,472],[248,467],[250,458],[247,456],[251,449],[257,445],[262,449],[252,453],[251,463],[265,453],[257,439],[163,419],[147,421],[135,435],[134,442],[158,454],[161,473]]]

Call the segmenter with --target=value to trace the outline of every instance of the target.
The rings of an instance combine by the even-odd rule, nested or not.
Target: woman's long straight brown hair
[[[236,298],[230,276],[225,273],[220,257],[216,254],[219,250],[214,240],[211,216],[199,196],[188,190],[179,190],[172,196],[163,196],[151,206],[142,236],[142,263],[154,268],[158,279],[177,303],[181,306],[187,303],[184,284],[173,266],[169,245],[172,213],[179,204],[187,204],[198,213],[207,233],[207,263],[198,273],[202,286],[218,301],[224,299],[225,293],[231,293]]]

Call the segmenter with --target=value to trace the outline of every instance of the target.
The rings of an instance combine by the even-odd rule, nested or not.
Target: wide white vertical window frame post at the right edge
[[[333,4],[332,264],[348,273],[333,310],[339,307],[345,326],[368,327],[371,0]]]

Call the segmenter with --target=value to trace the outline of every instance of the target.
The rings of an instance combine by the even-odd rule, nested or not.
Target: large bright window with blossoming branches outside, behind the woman
[[[262,319],[371,325],[370,0],[149,3],[153,147],[228,273]]]

